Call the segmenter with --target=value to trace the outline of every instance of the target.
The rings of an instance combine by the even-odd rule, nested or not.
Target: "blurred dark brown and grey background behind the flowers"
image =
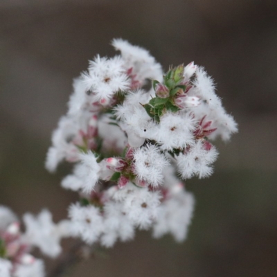
[[[197,203],[186,242],[138,232],[66,276],[276,277],[275,0],[0,0],[0,204],[66,217],[77,195],[60,188],[66,169],[46,172],[45,154],[72,79],[97,53],[114,55],[114,37],[165,71],[205,66],[240,132],[217,141],[212,177],[187,181]]]

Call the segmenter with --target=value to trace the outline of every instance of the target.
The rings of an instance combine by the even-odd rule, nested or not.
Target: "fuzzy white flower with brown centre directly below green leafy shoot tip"
[[[161,149],[172,150],[173,148],[186,148],[193,143],[193,131],[195,120],[187,113],[166,113],[161,117],[159,131],[156,139],[161,143]]]

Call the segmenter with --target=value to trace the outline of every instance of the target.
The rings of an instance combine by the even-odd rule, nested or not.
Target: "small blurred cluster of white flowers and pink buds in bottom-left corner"
[[[69,221],[53,224],[52,215],[44,210],[37,218],[26,213],[26,231],[21,233],[19,220],[9,208],[0,206],[0,277],[43,277],[44,262],[30,254],[33,247],[56,257],[60,239],[69,235]]]

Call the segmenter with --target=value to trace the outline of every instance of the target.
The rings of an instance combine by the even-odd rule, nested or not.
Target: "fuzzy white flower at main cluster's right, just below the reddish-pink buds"
[[[213,173],[211,164],[217,159],[217,150],[214,146],[206,150],[202,140],[198,140],[190,145],[185,154],[179,154],[177,159],[177,168],[181,177],[189,179],[198,176],[200,179],[208,177]]]

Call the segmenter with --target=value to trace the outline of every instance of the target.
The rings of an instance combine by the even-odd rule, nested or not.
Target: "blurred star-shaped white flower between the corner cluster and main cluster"
[[[52,215],[48,210],[43,210],[37,218],[26,213],[23,220],[26,225],[24,241],[39,247],[43,253],[52,258],[60,254],[62,233],[59,226],[53,223]]]

